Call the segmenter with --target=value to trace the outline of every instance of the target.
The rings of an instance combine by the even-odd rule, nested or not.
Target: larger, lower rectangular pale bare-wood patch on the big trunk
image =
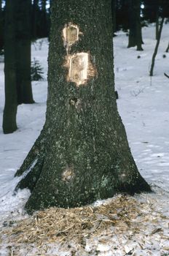
[[[90,53],[68,54],[64,66],[68,68],[67,81],[76,83],[77,87],[87,83],[87,80],[93,78],[96,74],[96,70],[90,61]]]

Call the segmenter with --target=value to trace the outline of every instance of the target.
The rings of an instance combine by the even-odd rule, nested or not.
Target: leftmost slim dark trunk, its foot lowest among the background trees
[[[4,133],[17,129],[17,77],[15,56],[15,3],[6,1],[4,34],[5,105],[3,116]]]

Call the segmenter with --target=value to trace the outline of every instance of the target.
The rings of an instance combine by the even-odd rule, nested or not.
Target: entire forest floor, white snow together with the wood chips
[[[138,169],[153,193],[117,195],[75,209],[50,208],[28,216],[28,189],[14,193],[14,178],[39,135],[47,99],[47,39],[32,45],[32,59],[42,64],[44,80],[33,82],[36,104],[20,105],[16,132],[1,129],[4,63],[0,59],[0,255],[165,256],[169,255],[169,24],[165,24],[154,67],[155,26],[144,27],[144,51],[127,49],[122,31],[114,37],[117,105]]]

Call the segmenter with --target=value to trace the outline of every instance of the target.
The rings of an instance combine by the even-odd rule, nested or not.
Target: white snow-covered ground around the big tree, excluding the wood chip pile
[[[101,236],[93,240],[86,238],[83,251],[75,244],[74,252],[71,252],[70,246],[65,249],[63,244],[58,243],[55,246],[49,244],[49,251],[42,253],[34,244],[26,250],[28,244],[23,243],[20,245],[22,249],[15,252],[15,245],[10,244],[7,236],[4,236],[9,221],[28,217],[23,206],[29,192],[24,189],[14,195],[13,189],[18,182],[14,175],[44,124],[47,80],[33,83],[36,104],[20,105],[17,110],[17,131],[4,135],[1,129],[4,64],[0,63],[0,230],[3,234],[0,236],[0,255],[169,255],[169,79],[164,76],[164,72],[169,74],[169,53],[165,53],[168,31],[169,24],[165,24],[152,78],[149,77],[149,69],[156,44],[155,27],[152,25],[143,29],[144,51],[141,52],[135,48],[127,49],[128,38],[122,31],[114,37],[114,72],[119,94],[119,113],[138,169],[155,192],[134,197],[139,204],[145,203],[142,209],[144,230],[136,235],[131,234],[133,230],[121,230],[119,233],[116,230],[112,233],[110,228],[109,235],[103,230],[101,236],[102,240],[103,235],[106,236],[104,242]],[[46,39],[32,45],[32,59],[40,61],[44,67],[44,77],[47,77],[47,49]],[[139,224],[139,219],[136,222]]]

